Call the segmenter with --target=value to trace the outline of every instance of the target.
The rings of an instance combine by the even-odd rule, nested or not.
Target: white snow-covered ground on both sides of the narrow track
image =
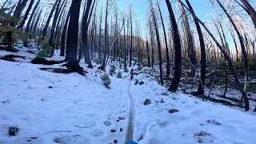
[[[0,51],[0,55],[4,53]],[[58,56],[53,59],[62,60]],[[135,75],[143,85],[134,85],[135,78],[130,82],[128,73],[123,72],[123,78],[114,74],[107,89],[96,64],[94,69],[81,66],[88,71],[86,77],[39,70],[63,68],[61,64],[0,60],[0,144],[124,143],[130,100],[134,106],[133,139],[139,144],[256,143],[252,110],[244,112],[182,93],[171,94],[149,74]],[[146,99],[151,101],[148,106],[143,104]],[[9,136],[10,126],[18,127],[16,136]]]

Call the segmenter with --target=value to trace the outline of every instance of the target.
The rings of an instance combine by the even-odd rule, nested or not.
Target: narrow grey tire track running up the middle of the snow
[[[126,140],[125,143],[128,141],[133,140],[134,136],[134,101],[133,98],[130,94],[130,83],[129,81],[129,86],[128,86],[128,120],[127,120],[127,130],[126,130]]]

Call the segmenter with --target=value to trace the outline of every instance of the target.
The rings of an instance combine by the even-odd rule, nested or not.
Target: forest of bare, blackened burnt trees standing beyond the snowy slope
[[[25,37],[36,39],[38,49],[50,50],[49,57],[58,50],[66,67],[82,75],[84,69],[94,67],[93,61],[100,70],[109,61],[122,63],[124,70],[133,61],[138,70],[158,66],[159,83],[170,82],[168,90],[176,92],[185,75],[196,79],[198,89],[193,94],[204,99],[206,85],[214,89],[214,77],[221,69],[223,97],[232,80],[241,92],[241,105],[249,110],[247,93],[250,78],[255,77],[250,71],[256,70],[255,2],[210,0],[216,13],[211,22],[202,22],[189,0],[147,3],[146,27],[142,27],[133,6],[120,11],[115,0],[6,0],[1,2],[0,40],[11,50],[17,33],[26,33]],[[79,66],[81,60],[87,68]]]

